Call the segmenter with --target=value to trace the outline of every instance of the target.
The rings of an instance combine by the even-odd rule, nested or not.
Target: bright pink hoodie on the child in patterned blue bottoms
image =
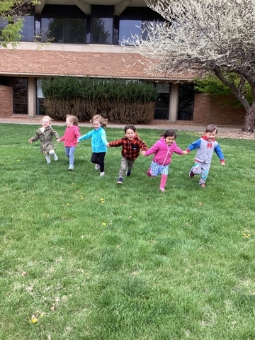
[[[183,151],[174,142],[171,146],[167,145],[164,137],[160,138],[146,153],[145,156],[154,154],[153,162],[160,165],[168,165],[171,163],[171,155],[173,153],[183,154]]]

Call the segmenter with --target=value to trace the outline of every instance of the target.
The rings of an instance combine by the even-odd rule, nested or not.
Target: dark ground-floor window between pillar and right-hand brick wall
[[[193,120],[193,84],[179,84],[178,120]]]

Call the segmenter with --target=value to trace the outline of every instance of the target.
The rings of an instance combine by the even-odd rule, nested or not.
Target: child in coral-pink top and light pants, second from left
[[[68,170],[70,171],[74,170],[74,152],[77,147],[77,139],[81,135],[78,124],[78,118],[75,115],[67,115],[67,128],[64,131],[64,136],[57,140],[57,142],[64,142],[64,151],[69,158]]]

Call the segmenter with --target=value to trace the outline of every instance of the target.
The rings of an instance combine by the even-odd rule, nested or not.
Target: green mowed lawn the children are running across
[[[120,148],[99,177],[91,140],[70,172],[63,143],[49,165],[28,143],[38,125],[0,128],[1,340],[255,339],[254,141],[218,139],[205,189],[196,153],[174,154],[161,193],[152,157],[118,186]],[[162,131],[137,132],[151,147]]]

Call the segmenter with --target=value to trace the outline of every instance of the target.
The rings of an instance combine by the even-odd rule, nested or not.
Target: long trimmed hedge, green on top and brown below
[[[90,120],[101,114],[112,123],[149,123],[154,116],[157,89],[145,81],[56,77],[42,79],[45,109],[52,118],[67,114]]]

